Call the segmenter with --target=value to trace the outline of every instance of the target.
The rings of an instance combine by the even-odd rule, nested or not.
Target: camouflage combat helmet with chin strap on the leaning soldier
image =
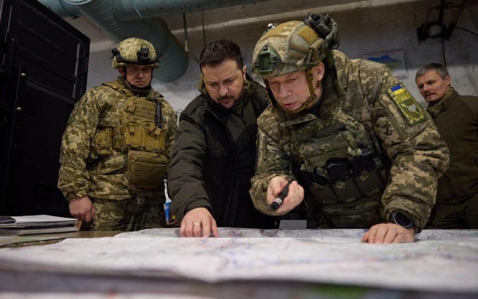
[[[255,45],[252,73],[262,79],[287,75],[299,70],[307,73],[310,96],[299,112],[317,98],[311,68],[324,59],[333,66],[332,49],[339,46],[337,23],[329,16],[309,13],[304,21],[269,24]],[[265,81],[267,85],[267,81]],[[267,88],[268,89],[268,88]],[[268,90],[269,96],[271,93]]]

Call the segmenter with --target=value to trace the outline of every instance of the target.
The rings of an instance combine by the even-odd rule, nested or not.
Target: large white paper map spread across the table
[[[362,233],[221,228],[223,237],[206,239],[170,237],[177,234],[174,228],[149,229],[3,248],[0,271],[478,292],[478,230],[425,230],[414,243],[391,245],[360,243]]]

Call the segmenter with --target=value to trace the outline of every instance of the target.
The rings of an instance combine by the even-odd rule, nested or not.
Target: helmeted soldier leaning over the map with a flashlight
[[[272,105],[257,120],[252,201],[265,214],[303,214],[312,228],[371,227],[364,242],[411,242],[435,204],[448,149],[385,65],[350,60],[333,50],[338,41],[330,16],[309,14],[257,42],[252,72]]]

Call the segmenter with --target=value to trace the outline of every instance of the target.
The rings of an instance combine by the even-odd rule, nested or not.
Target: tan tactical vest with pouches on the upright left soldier
[[[126,152],[126,178],[129,185],[141,188],[163,186],[166,174],[166,129],[163,129],[161,102],[156,98],[135,96],[119,82],[106,82],[127,96],[121,108],[119,127],[98,132],[94,147],[101,157]]]

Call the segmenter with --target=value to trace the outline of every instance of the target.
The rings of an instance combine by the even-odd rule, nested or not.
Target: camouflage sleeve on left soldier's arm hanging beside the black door
[[[58,188],[67,200],[88,195],[86,160],[99,122],[100,109],[90,90],[75,104],[61,143]]]

